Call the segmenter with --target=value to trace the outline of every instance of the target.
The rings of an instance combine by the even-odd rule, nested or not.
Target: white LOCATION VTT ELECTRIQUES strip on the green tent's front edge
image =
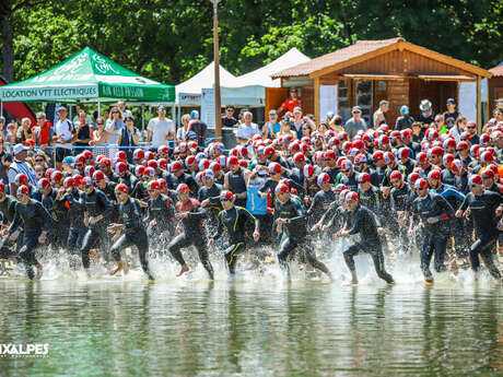
[[[0,99],[4,102],[91,98],[97,96],[97,85],[0,87]]]

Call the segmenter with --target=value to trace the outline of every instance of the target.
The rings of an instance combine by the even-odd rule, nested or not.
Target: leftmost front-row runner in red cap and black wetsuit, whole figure
[[[42,276],[42,264],[35,258],[35,250],[40,244],[45,244],[47,233],[52,224],[49,212],[37,200],[30,198],[30,189],[20,186],[16,191],[17,202],[15,214],[9,227],[9,240],[14,241],[23,229],[22,247],[16,256],[26,268],[27,276],[33,280]],[[36,275],[33,268],[36,267]]]

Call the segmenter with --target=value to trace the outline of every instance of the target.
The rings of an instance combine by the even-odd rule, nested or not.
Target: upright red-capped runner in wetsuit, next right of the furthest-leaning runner
[[[411,204],[409,235],[414,226],[421,228],[421,271],[426,283],[433,283],[430,270],[431,259],[434,256],[436,272],[446,270],[444,264],[447,239],[451,235],[449,219],[454,215],[453,207],[438,193],[429,190],[428,180],[420,178],[414,184],[418,198]]]

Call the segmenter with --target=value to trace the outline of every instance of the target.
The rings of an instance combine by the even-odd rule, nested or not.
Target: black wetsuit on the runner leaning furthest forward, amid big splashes
[[[353,225],[349,228],[349,234],[360,234],[360,241],[343,252],[348,268],[350,271],[355,271],[353,257],[364,251],[371,255],[377,276],[387,283],[394,283],[393,276],[386,272],[384,267],[384,255],[377,233],[379,222],[376,214],[366,207],[359,205],[355,212],[350,212],[350,217],[352,217]]]

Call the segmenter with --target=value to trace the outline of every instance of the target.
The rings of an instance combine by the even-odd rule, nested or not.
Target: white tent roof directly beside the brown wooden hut
[[[273,73],[309,61],[311,59],[297,50],[295,47],[269,64],[261,67],[253,72],[236,78],[233,87],[260,85],[265,87],[281,87],[281,80],[273,80]]]

